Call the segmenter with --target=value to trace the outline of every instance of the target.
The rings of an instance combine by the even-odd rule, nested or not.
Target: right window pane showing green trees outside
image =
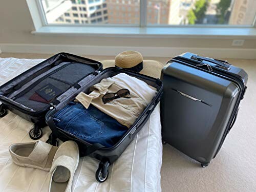
[[[256,0],[148,0],[147,24],[252,25]]]

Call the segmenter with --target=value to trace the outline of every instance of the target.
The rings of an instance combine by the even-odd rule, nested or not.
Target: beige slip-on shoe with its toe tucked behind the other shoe
[[[57,149],[58,147],[42,141],[14,143],[9,146],[9,152],[15,164],[48,172]]]

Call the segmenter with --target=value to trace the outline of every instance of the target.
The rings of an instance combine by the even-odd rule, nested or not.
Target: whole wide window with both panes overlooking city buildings
[[[45,24],[70,24],[75,23],[78,14],[91,20],[94,13],[103,11],[108,16],[108,25],[241,25],[253,26],[256,15],[256,0],[34,0],[40,3]],[[141,1],[141,2],[140,2]],[[97,4],[96,4],[97,3]],[[84,5],[82,5],[84,4]],[[86,5],[89,4],[89,5]],[[96,5],[95,5],[96,4]],[[91,6],[93,5],[93,6]],[[95,6],[94,6],[95,5]],[[89,10],[86,9],[89,7]],[[107,11],[111,10],[111,11]],[[88,11],[88,12],[87,12]],[[142,14],[140,14],[140,12]],[[62,16],[69,17],[60,21]],[[95,13],[100,15],[100,13]],[[125,19],[118,18],[125,15]],[[140,15],[142,18],[140,18]],[[95,16],[95,15],[94,15]],[[81,16],[84,18],[84,16]],[[103,17],[102,17],[103,18]],[[89,23],[97,23],[95,22]]]

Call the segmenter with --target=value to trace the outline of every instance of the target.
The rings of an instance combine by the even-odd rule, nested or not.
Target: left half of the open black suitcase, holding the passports
[[[51,106],[62,102],[70,90],[77,90],[80,87],[78,82],[82,78],[90,77],[101,70],[102,64],[99,61],[69,53],[56,54],[0,87],[0,101],[3,103],[0,115],[3,117],[6,109],[9,109],[35,123],[30,137],[39,139],[42,136],[41,127],[46,125],[45,115]],[[52,83],[62,94],[49,104],[30,100],[31,94],[46,83]]]

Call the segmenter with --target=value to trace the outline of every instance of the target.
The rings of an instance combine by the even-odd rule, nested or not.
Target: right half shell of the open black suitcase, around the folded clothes
[[[135,123],[127,130],[126,134],[112,147],[106,148],[98,143],[91,144],[84,140],[79,139],[75,135],[65,132],[59,127],[57,127],[53,121],[54,115],[57,111],[61,110],[67,103],[74,100],[75,96],[80,92],[88,93],[90,87],[94,84],[100,82],[104,78],[115,76],[119,73],[126,73],[130,76],[134,76],[140,80],[145,81],[150,86],[153,86],[157,89],[158,93],[152,99],[152,101],[146,106],[142,114],[135,121]],[[91,80],[87,81],[86,84],[81,86],[76,92],[72,93],[69,98],[63,103],[55,105],[46,115],[46,121],[52,130],[52,134],[50,135],[50,143],[55,144],[56,138],[59,138],[62,141],[74,140],[79,146],[80,156],[90,155],[93,158],[100,160],[99,167],[96,172],[96,179],[99,182],[103,182],[108,177],[108,167],[112,164],[118,157],[123,153],[125,148],[130,144],[135,135],[140,131],[143,125],[146,123],[151,113],[155,109],[155,106],[160,101],[163,90],[163,84],[160,79],[155,79],[153,77],[148,77],[139,73],[135,73],[133,71],[121,69],[121,68],[106,68],[102,72],[95,74],[95,77]]]

